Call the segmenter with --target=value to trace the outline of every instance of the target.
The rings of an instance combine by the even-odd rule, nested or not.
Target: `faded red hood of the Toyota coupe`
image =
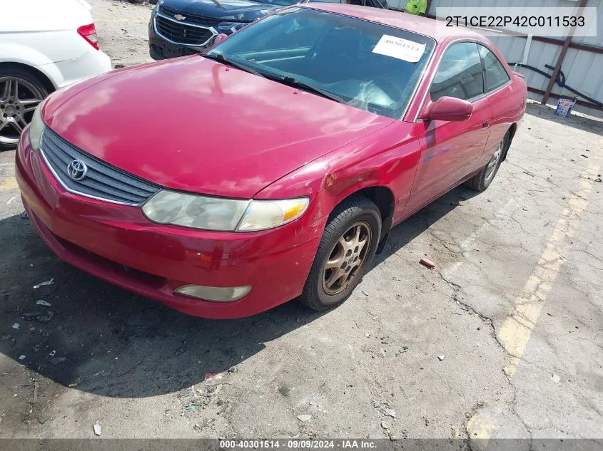
[[[241,198],[393,122],[201,56],[78,83],[42,114],[81,150],[145,180]]]

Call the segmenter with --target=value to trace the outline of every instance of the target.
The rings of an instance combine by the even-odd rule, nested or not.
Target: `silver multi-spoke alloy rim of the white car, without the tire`
[[[16,76],[0,77],[0,144],[19,142],[43,99],[44,94],[34,83]]]

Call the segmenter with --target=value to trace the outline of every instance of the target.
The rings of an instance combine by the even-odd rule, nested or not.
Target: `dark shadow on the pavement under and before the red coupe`
[[[457,188],[396,227],[374,265],[471,196]],[[186,316],[61,261],[19,215],[0,221],[0,248],[0,352],[97,395],[138,398],[188,388],[324,314],[292,301],[230,321]],[[36,304],[39,299],[51,305]]]

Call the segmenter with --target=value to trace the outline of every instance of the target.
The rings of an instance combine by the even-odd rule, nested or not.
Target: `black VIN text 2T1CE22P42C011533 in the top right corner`
[[[586,26],[584,16],[447,16],[446,26]]]

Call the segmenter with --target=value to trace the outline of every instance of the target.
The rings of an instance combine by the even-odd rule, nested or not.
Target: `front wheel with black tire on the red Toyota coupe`
[[[380,234],[381,213],[375,203],[358,196],[338,205],[320,239],[300,303],[324,311],[348,299],[368,271]],[[327,264],[333,266],[334,262],[337,266],[328,269]]]

